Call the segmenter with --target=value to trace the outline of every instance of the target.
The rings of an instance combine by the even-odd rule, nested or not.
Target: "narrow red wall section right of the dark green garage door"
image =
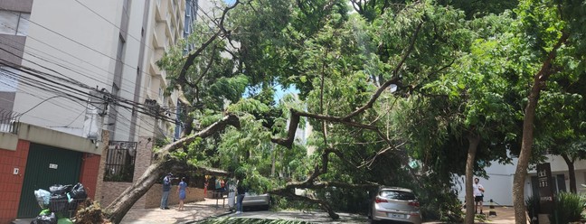
[[[80,182],[88,193],[88,197],[95,199],[99,172],[98,154],[84,154],[81,162]]]

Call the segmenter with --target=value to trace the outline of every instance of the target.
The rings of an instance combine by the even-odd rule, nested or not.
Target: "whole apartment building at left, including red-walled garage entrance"
[[[144,173],[156,139],[180,131],[177,93],[165,96],[156,61],[196,9],[196,0],[0,1],[0,223],[35,217],[34,190],[82,182],[107,204]]]

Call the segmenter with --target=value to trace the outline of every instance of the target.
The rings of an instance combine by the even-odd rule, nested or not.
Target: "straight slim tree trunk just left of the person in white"
[[[474,160],[477,153],[479,135],[468,135],[468,158],[466,159],[466,224],[474,223],[474,192],[472,182],[474,178]]]

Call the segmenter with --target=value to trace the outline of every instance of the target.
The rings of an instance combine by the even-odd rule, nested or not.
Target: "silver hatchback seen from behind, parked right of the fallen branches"
[[[421,223],[420,203],[415,193],[406,188],[379,187],[368,211],[373,223],[380,220]]]

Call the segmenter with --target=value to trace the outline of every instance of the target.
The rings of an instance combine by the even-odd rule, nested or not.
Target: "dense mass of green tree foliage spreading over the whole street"
[[[255,191],[334,219],[364,212],[374,186],[394,185],[418,192],[424,217],[455,221],[454,175],[466,174],[470,197],[472,175],[510,153],[526,173],[528,127],[545,127],[543,147],[583,149],[584,5],[501,2],[218,3],[158,65],[167,90],[184,94],[186,137],[226,116],[238,125],[163,152],[246,173]],[[186,44],[194,51],[184,55]],[[288,88],[298,94],[274,100]]]

